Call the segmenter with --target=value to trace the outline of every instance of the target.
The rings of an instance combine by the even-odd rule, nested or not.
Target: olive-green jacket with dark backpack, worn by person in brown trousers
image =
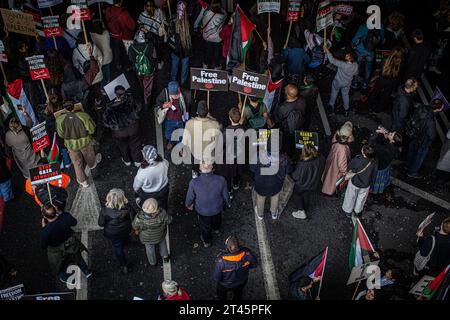
[[[91,144],[95,123],[85,112],[65,112],[56,118],[56,131],[67,149],[78,151]]]

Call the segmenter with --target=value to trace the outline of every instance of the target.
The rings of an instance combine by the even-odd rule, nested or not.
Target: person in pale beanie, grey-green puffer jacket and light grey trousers
[[[132,226],[139,240],[145,246],[148,262],[151,266],[157,266],[155,247],[159,246],[159,253],[164,263],[168,263],[169,251],[167,249],[167,226],[172,222],[166,210],[158,207],[158,201],[150,198],[145,200],[142,211],[133,220]]]

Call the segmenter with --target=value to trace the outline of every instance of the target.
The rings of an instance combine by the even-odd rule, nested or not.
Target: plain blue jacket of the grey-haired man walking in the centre
[[[227,182],[224,177],[213,173],[202,173],[189,182],[186,195],[186,207],[195,205],[195,210],[202,216],[215,216],[230,205]]]

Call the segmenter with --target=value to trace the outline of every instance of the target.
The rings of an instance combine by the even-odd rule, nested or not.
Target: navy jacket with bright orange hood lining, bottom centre
[[[217,256],[214,280],[225,288],[236,288],[248,279],[248,273],[257,266],[250,249],[241,247],[237,253],[222,252]]]

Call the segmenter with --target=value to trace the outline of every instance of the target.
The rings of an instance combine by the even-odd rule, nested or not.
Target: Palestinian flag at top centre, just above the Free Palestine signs
[[[239,67],[245,61],[252,40],[252,31],[256,26],[245,16],[239,5],[233,15],[230,51],[227,57],[227,69]]]

